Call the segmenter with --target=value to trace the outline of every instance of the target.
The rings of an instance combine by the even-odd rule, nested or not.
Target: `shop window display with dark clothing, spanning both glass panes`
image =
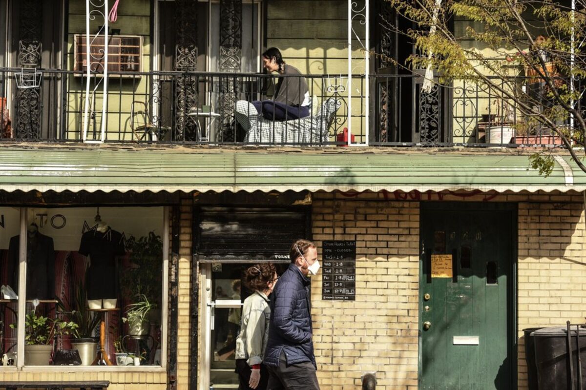
[[[101,219],[100,210],[109,224]],[[28,226],[20,223],[21,215],[26,215]],[[7,355],[7,365],[16,361],[11,354],[21,336],[10,325],[18,323],[17,309],[22,303],[18,300],[25,298],[26,314],[44,318],[49,325],[54,321],[76,325],[74,332],[49,334],[43,340],[52,347],[50,353],[77,349],[84,357],[81,364],[92,364],[99,335],[105,362],[121,364],[124,360],[118,362],[115,353],[124,348],[123,352],[141,357],[139,365],[161,365],[166,338],[161,314],[151,310],[165,305],[163,243],[168,238],[162,235],[168,214],[155,206],[104,207],[94,215],[96,207],[0,208],[0,223],[5,226],[0,225],[0,350]],[[21,254],[21,239],[26,254]],[[6,296],[7,286],[18,292],[19,269],[24,268],[26,278],[21,279],[26,282],[26,297]],[[34,299],[40,302],[31,302]],[[145,316],[138,320],[137,306],[142,310],[138,314]],[[131,338],[137,335],[131,333],[137,326],[141,337]],[[26,326],[24,337],[30,332]],[[25,365],[37,364],[28,360],[32,355],[26,348],[23,356]],[[56,362],[47,357],[39,365]]]

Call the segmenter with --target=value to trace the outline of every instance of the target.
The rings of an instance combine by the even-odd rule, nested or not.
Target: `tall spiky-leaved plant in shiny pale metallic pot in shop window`
[[[100,317],[87,309],[87,293],[83,282],[77,285],[73,302],[68,305],[69,307],[61,300],[58,300],[57,306],[68,313],[67,318],[71,322],[77,324],[77,328],[71,333],[71,346],[79,352],[81,365],[91,365],[98,351],[94,330],[100,323]]]

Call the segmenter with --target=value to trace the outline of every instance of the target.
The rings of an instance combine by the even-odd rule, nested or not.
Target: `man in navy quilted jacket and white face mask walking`
[[[271,321],[264,364],[268,390],[319,390],[316,377],[309,279],[319,271],[318,252],[311,241],[297,240],[289,250],[291,264],[271,296]]]

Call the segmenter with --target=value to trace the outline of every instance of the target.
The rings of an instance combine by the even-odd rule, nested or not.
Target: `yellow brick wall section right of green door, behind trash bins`
[[[540,203],[519,203],[519,389],[527,389],[523,329],[584,323],[586,315],[581,196],[544,197]]]

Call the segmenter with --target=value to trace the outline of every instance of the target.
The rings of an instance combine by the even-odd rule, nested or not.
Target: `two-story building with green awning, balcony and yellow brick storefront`
[[[234,280],[301,237],[323,390],[527,389],[523,330],[583,322],[586,175],[563,149],[533,170],[526,145],[557,141],[493,124],[490,90],[424,93],[387,2],[0,0],[0,20],[0,382],[236,389]],[[268,47],[309,117],[237,111],[275,93]],[[39,317],[77,332],[35,340]]]

